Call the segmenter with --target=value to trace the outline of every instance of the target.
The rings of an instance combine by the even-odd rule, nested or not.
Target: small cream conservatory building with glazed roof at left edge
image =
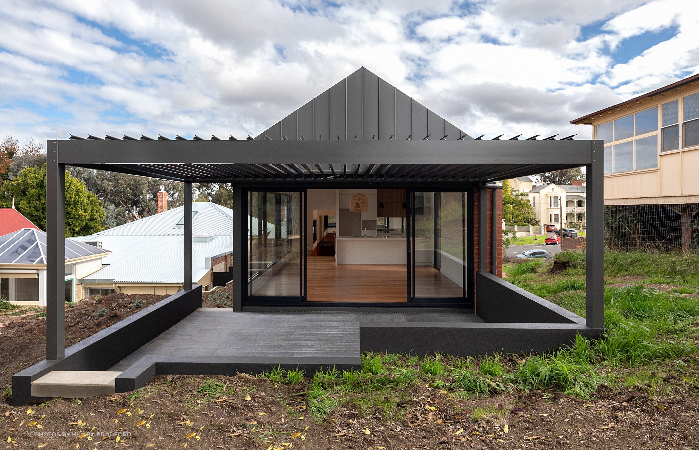
[[[30,222],[31,224],[31,222]],[[102,268],[111,252],[64,238],[63,289],[65,302],[82,299],[80,280]],[[14,303],[46,306],[46,233],[22,228],[0,236],[0,296]]]

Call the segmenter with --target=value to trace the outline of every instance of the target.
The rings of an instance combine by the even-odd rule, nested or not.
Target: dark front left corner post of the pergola
[[[64,268],[66,217],[65,165],[58,159],[58,141],[46,141],[46,359],[65,354]]]

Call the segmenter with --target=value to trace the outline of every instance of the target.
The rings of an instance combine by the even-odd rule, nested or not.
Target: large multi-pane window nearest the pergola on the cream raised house
[[[664,106],[662,112],[665,120]],[[596,138],[605,140],[605,175],[658,167],[657,131],[657,106],[596,126]],[[648,133],[654,134],[631,140]]]

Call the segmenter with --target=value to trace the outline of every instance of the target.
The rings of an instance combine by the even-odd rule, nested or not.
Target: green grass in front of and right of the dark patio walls
[[[506,279],[584,316],[584,254],[559,255],[556,261],[567,261],[562,271],[550,272],[552,263],[545,261],[526,261],[506,265]],[[419,386],[433,389],[431,396],[444,393],[452,400],[537,389],[589,398],[600,384],[614,389],[641,389],[649,395],[669,393],[665,375],[684,376],[688,368],[683,360],[698,353],[699,300],[682,296],[699,290],[698,266],[696,255],[608,252],[607,277],[635,276],[644,280],[624,289],[605,288],[606,331],[602,339],[578,335],[570,346],[547,354],[459,358],[366,352],[361,357],[360,371],[340,373],[333,368],[309,379],[303,378],[298,369],[277,368],[263,376],[275,382],[301,384],[298,395],[305,400],[308,414],[317,420],[338,407],[357,410],[362,416],[379,414],[384,420],[404,420],[407,411],[403,405],[410,404]],[[681,276],[672,275],[677,273],[673,270],[679,270]],[[672,292],[648,289],[641,285],[648,280],[677,287]],[[658,375],[661,373],[664,375]],[[689,382],[696,382],[693,375],[688,373],[687,377]],[[204,394],[213,395],[221,386],[208,389],[212,393]],[[496,416],[498,411],[484,405],[474,407],[468,415],[479,419]]]

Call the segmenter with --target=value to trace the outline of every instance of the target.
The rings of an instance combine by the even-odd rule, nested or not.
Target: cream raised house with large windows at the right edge
[[[605,208],[627,245],[699,242],[699,74],[572,120],[604,140]],[[623,222],[623,223],[621,223]]]

